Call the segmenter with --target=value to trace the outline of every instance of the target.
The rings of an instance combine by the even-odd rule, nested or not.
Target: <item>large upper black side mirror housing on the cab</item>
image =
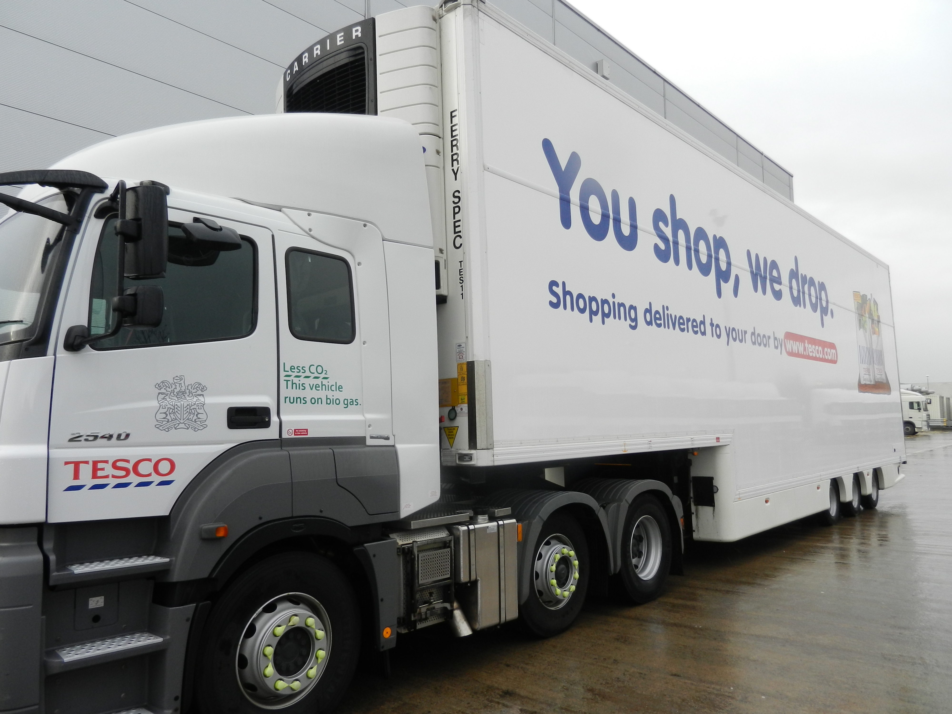
[[[169,204],[156,184],[119,188],[116,234],[126,244],[127,278],[164,278],[169,262]]]

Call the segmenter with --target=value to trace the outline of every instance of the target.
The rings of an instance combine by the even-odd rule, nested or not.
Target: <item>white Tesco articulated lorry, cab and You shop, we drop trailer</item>
[[[324,711],[902,478],[888,268],[498,10],[277,109],[0,176],[0,711]]]

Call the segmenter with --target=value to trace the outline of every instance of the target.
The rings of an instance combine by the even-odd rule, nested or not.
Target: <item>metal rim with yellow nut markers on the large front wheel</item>
[[[235,674],[251,704],[280,709],[307,696],[329,655],[327,610],[309,595],[289,592],[262,605],[245,625]]]

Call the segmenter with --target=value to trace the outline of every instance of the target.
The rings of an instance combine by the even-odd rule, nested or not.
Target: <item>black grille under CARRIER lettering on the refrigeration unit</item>
[[[367,61],[362,46],[328,58],[288,89],[286,111],[367,114]]]

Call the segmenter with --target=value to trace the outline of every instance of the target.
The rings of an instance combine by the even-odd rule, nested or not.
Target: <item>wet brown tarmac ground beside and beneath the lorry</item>
[[[545,641],[402,636],[339,711],[950,712],[952,433],[906,453],[877,509],[700,544],[649,605],[590,599]]]

